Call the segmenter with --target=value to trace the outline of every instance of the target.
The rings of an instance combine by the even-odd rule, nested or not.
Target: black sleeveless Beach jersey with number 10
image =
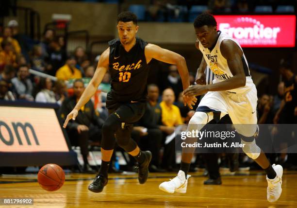
[[[111,40],[108,44],[112,81],[107,100],[120,103],[146,101],[148,64],[145,47],[148,43],[136,38],[136,43],[129,52],[125,51],[119,39]],[[109,103],[107,102],[107,105]]]

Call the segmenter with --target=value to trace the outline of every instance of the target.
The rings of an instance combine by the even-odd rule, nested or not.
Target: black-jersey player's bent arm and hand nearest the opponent
[[[183,56],[176,52],[169,51],[167,49],[163,49],[154,44],[148,44],[145,48],[145,55],[147,59],[147,63],[150,62],[152,58],[162,61],[168,64],[174,64],[177,66],[179,73],[181,75],[181,82],[183,90],[185,90],[190,85],[189,80],[189,71],[187,68],[187,64]],[[194,105],[197,99],[193,97],[184,97],[184,105],[188,104],[188,106],[192,109],[192,105]]]

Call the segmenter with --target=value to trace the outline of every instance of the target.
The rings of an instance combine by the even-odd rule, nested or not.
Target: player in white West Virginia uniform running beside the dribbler
[[[214,118],[213,111],[220,111],[220,118],[229,114],[236,131],[241,136],[243,151],[254,159],[266,172],[267,200],[277,201],[281,196],[281,165],[273,164],[257,146],[257,89],[251,79],[247,59],[241,46],[229,35],[216,29],[216,21],[211,14],[198,15],[194,21],[197,35],[196,48],[203,54],[198,68],[196,82],[184,91],[184,96],[206,95],[198,105],[189,122],[188,131],[198,131]],[[212,85],[205,85],[206,65],[214,72]],[[194,152],[194,148],[192,148]],[[193,152],[182,151],[181,168],[178,175],[163,182],[159,188],[169,193],[185,193],[190,175],[187,175]]]

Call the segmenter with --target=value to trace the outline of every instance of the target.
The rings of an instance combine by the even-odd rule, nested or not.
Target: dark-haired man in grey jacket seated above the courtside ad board
[[[22,65],[17,71],[17,77],[11,80],[15,89],[17,98],[21,100],[34,101],[32,96],[33,84],[29,79],[29,68],[27,65]]]

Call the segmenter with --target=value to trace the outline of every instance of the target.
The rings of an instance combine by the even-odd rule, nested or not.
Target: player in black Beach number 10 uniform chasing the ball
[[[147,95],[148,65],[151,59],[175,64],[181,75],[182,87],[189,87],[189,74],[185,59],[159,46],[148,44],[136,38],[137,17],[131,12],[122,12],[117,17],[119,39],[109,42],[109,48],[99,59],[94,77],[90,81],[74,109],[64,123],[75,120],[78,111],[94,95],[107,70],[111,73],[111,91],[107,95],[106,107],[109,117],[102,127],[101,154],[102,162],[99,173],[88,189],[101,192],[107,184],[107,170],[114,151],[115,138],[120,147],[134,156],[139,164],[138,181],[143,184],[148,179],[148,164],[151,160],[149,151],[142,152],[131,139],[132,123],[138,121],[145,112]],[[185,97],[184,104],[190,108],[196,98]]]

